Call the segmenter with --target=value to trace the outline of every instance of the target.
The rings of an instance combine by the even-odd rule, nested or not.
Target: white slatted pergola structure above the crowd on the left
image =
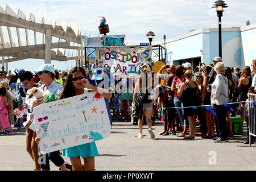
[[[4,40],[2,26],[7,27],[10,43]],[[16,28],[18,46],[13,41],[10,27]],[[26,45],[24,46],[20,41],[19,28],[24,28],[25,30]],[[28,40],[28,30],[34,31],[34,43],[32,44]],[[37,43],[36,32],[43,35],[42,44]],[[52,37],[59,38],[59,41],[52,43]],[[0,38],[0,63],[5,66],[6,70],[8,70],[8,63],[12,61],[31,58],[44,59],[45,64],[51,64],[51,60],[76,60],[76,66],[85,65],[83,47],[85,35],[82,36],[81,31],[79,35],[79,28],[73,22],[71,22],[70,27],[64,21],[61,22],[61,26],[57,26],[55,20],[52,20],[52,24],[44,24],[44,18],[42,23],[36,23],[35,16],[32,13],[30,14],[30,19],[26,20],[26,15],[21,10],[18,10],[18,14],[15,14],[10,6],[7,5],[6,10],[0,6]],[[72,43],[73,46],[70,45]],[[75,43],[77,46],[74,46]],[[74,49],[76,50],[75,56],[73,56]],[[72,51],[72,56],[69,56],[70,50]]]

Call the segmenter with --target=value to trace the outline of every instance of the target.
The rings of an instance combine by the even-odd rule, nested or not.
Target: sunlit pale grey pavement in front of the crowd
[[[34,169],[34,163],[25,148],[25,133],[0,136],[0,171]],[[113,122],[109,138],[97,141],[100,156],[96,157],[97,171],[120,170],[255,170],[256,145],[243,144],[246,138],[246,123],[243,135],[234,135],[228,143],[214,143],[210,139],[196,137],[184,140],[176,136],[159,136],[163,123],[156,121],[152,127],[156,138],[152,140],[143,126],[139,139],[138,126],[130,122]],[[64,158],[69,162],[68,158]],[[58,170],[51,163],[51,170]]]

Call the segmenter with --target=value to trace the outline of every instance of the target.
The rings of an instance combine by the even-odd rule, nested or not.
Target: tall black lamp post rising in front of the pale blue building
[[[217,16],[218,16],[218,56],[222,57],[222,44],[221,44],[221,16],[223,9],[226,6],[225,1],[217,0],[215,4],[212,6],[213,8],[216,8]]]

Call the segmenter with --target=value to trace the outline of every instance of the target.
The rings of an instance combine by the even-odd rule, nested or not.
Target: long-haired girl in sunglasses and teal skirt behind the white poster
[[[86,88],[84,88],[84,86]],[[104,98],[111,98],[112,93],[103,88],[98,88],[90,84],[86,79],[86,73],[81,67],[74,67],[67,76],[67,83],[60,95],[60,99],[78,96],[89,92],[100,93]],[[108,109],[108,108],[107,108]],[[94,156],[98,155],[95,142],[81,144],[79,146],[65,148],[62,150],[63,156],[69,157],[74,171],[82,171],[81,159],[84,159],[85,170],[94,171]]]

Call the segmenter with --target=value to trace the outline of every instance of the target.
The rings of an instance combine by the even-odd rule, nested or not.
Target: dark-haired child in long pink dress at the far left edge
[[[8,119],[8,110],[10,109],[11,106],[8,104],[5,94],[6,94],[6,88],[1,87],[0,88],[0,124],[1,124],[0,134],[1,135],[8,134],[6,132],[6,129],[8,129],[11,126]]]

